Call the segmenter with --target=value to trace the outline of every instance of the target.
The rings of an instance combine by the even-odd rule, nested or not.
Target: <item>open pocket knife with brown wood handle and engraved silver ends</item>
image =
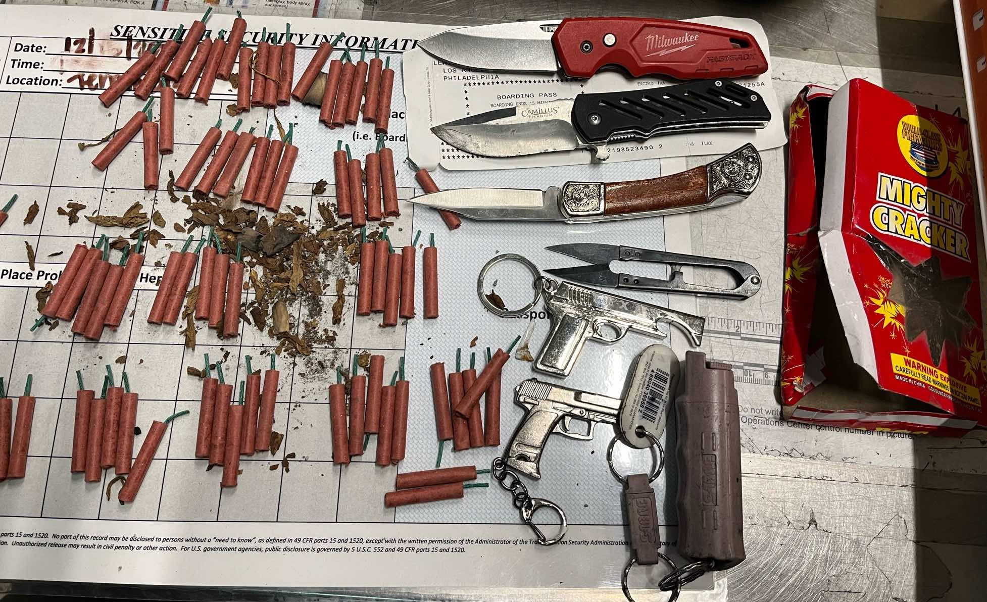
[[[691,170],[629,182],[568,182],[547,190],[448,188],[412,202],[479,220],[564,221],[633,219],[698,211],[746,198],[761,179],[753,144]]]

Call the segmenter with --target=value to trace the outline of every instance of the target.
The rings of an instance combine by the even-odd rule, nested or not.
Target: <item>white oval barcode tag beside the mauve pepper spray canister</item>
[[[639,429],[660,440],[678,375],[678,357],[669,347],[653,344],[638,356],[620,412],[620,429],[629,445],[642,449],[651,445]]]

